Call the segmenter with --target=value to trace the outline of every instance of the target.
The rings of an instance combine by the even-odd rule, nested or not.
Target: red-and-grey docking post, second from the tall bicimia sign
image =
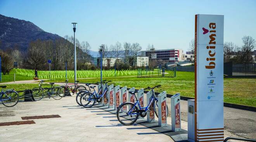
[[[167,126],[166,116],[166,91],[163,91],[158,95],[158,126]]]

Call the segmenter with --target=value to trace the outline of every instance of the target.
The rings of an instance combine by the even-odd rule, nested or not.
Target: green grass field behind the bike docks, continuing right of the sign
[[[167,71],[168,72],[168,71]],[[106,77],[103,79],[112,80],[112,83],[120,86],[135,87],[136,89],[146,88],[147,86],[162,85],[160,91],[167,91],[168,94],[180,93],[182,96],[194,97],[194,73],[177,71],[176,78],[137,78],[129,76]],[[133,74],[134,75],[134,74]],[[136,76],[137,74],[135,74]],[[11,75],[10,75],[11,76]],[[21,80],[31,79],[28,76],[21,76]],[[13,79],[9,79],[13,81]],[[17,80],[17,79],[16,79]],[[78,79],[80,82],[95,83],[100,78]],[[64,82],[65,79],[53,79],[50,82]],[[5,80],[5,82],[7,82]],[[69,79],[74,82],[74,79]],[[7,85],[8,88],[16,90],[24,90],[34,88],[37,84],[26,85]],[[256,106],[256,79],[253,78],[224,78],[224,101],[228,103],[236,103],[242,105]]]

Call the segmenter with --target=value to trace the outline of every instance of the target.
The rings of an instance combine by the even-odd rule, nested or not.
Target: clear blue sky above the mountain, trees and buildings
[[[244,35],[256,39],[256,0],[0,0],[0,14],[62,37],[73,35],[77,22],[76,37],[93,51],[117,41],[187,51],[195,14],[224,15],[224,41],[241,46]]]

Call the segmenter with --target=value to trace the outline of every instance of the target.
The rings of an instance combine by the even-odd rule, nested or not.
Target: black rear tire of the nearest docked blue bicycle
[[[135,104],[134,103],[131,103],[131,102],[126,102],[126,103],[123,103],[123,104],[121,104],[120,106],[118,106],[118,110],[116,111],[116,117],[118,118],[118,121],[121,123],[121,124],[123,124],[123,125],[132,125],[133,123],[135,123],[136,121],[137,121],[137,119],[138,119],[138,116],[139,116],[139,113],[137,113],[136,114],[136,117],[135,118],[133,118],[133,120],[130,122],[130,123],[124,123],[123,121],[122,121],[122,119],[121,118],[123,118],[123,119],[126,119],[126,120],[129,120],[129,119],[127,119],[127,118],[124,118],[124,116],[121,114],[121,112],[120,112],[120,110],[121,111],[123,111],[123,112],[125,112],[123,109],[125,109],[125,108],[123,108],[123,106],[125,106],[126,105],[126,110],[129,108],[128,107],[128,105],[130,105],[130,108],[132,108]],[[123,109],[121,109],[121,108],[123,108]],[[135,108],[135,110],[138,110],[138,107],[137,106],[135,106],[134,107]],[[128,110],[129,111],[129,110]],[[127,112],[128,112],[127,111]],[[127,115],[127,114],[126,114]],[[128,116],[128,115],[127,115]]]

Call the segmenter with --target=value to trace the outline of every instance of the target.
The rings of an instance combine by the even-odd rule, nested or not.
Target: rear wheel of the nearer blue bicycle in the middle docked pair
[[[80,104],[85,108],[92,107],[96,102],[95,95],[90,92],[84,92],[80,97]]]

